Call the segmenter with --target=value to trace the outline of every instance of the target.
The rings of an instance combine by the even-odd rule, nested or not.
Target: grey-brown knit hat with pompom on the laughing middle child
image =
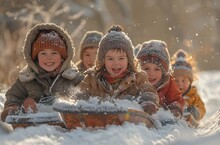
[[[113,25],[108,30],[108,33],[102,37],[99,43],[99,50],[97,54],[98,64],[101,67],[104,66],[105,54],[110,49],[122,49],[126,52],[129,66],[132,68],[134,66],[133,48],[134,46],[131,39],[123,32],[123,28],[119,25]]]

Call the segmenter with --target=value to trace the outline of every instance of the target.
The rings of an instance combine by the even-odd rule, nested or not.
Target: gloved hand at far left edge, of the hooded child
[[[12,104],[12,105],[9,105],[9,106],[5,107],[4,110],[1,113],[2,121],[4,122],[5,118],[8,115],[18,115],[20,113],[20,110],[21,110],[20,106],[18,106],[16,104]]]

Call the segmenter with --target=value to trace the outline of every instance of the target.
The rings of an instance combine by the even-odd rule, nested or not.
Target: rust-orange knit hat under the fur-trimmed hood
[[[58,33],[55,31],[39,33],[37,39],[34,41],[32,45],[32,60],[35,60],[37,54],[44,49],[53,49],[55,51],[58,51],[64,59],[67,58],[66,45],[62,38],[60,38]]]

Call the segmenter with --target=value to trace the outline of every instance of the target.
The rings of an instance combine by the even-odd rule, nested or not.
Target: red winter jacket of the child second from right
[[[178,108],[181,112],[183,111],[184,101],[182,99],[182,94],[171,75],[157,88],[157,92],[160,99],[160,105],[163,108]]]

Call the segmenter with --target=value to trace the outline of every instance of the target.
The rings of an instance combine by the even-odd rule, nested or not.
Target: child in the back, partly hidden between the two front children
[[[80,43],[80,61],[77,62],[77,67],[80,72],[85,72],[94,66],[99,41],[102,36],[103,34],[98,31],[88,31],[83,36]]]

